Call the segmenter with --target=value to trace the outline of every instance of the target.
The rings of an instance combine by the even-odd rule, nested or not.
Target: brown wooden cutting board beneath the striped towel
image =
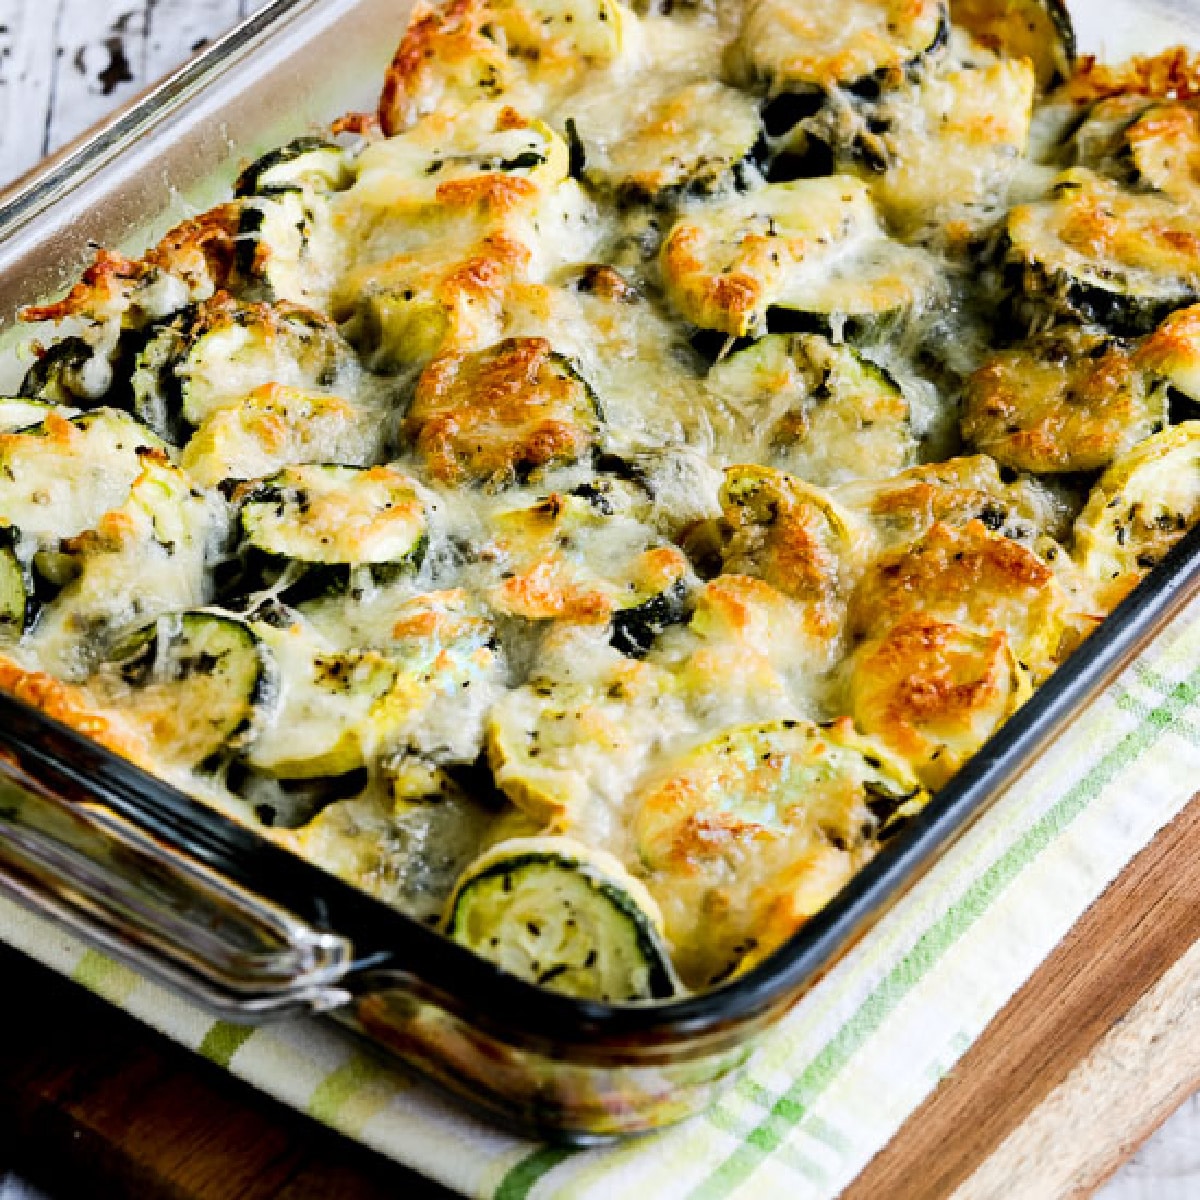
[[[846,1195],[1087,1195],[1200,1086],[1200,799],[1109,888]],[[0,1148],[64,1196],[449,1193],[0,949]],[[5,1145],[7,1140],[8,1145]]]

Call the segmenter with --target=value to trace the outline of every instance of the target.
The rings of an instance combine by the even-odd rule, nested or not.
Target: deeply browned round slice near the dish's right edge
[[[1099,470],[1168,421],[1168,386],[1109,337],[1064,329],[994,354],[967,380],[962,433],[1037,474]]]

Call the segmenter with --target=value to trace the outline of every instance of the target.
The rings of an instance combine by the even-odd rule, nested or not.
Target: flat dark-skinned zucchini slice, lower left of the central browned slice
[[[289,564],[306,569],[306,590],[313,574],[325,587],[348,586],[360,568],[378,582],[394,578],[420,566],[428,544],[425,503],[391,467],[287,467],[244,485],[236,499],[244,546],[277,575]]]

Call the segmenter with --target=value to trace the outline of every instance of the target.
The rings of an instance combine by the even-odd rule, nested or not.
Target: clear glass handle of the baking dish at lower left
[[[46,772],[35,778],[11,750],[0,751],[0,892],[233,1020],[349,998],[344,937],[76,788],[50,785]]]

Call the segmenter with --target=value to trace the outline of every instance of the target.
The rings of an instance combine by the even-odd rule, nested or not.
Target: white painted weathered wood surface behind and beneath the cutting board
[[[0,186],[182,62],[265,0],[0,0]],[[0,1175],[2,1200],[31,1198]],[[1200,1198],[1200,1097],[1103,1189]]]

